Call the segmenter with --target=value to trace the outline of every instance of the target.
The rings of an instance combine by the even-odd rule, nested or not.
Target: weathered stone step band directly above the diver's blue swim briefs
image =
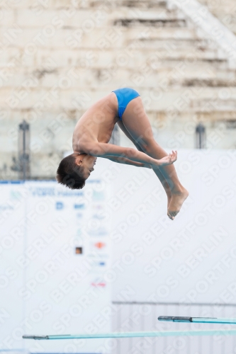
[[[5,68],[6,70],[7,68]],[[52,86],[61,86],[63,89],[63,78],[69,81],[69,87],[76,90],[82,89],[84,86],[96,86],[102,85],[104,88],[110,85],[110,81],[113,83],[113,88],[120,86],[120,77],[123,78],[123,82],[130,82],[143,87],[159,87],[162,84],[169,86],[169,89],[181,88],[181,87],[235,87],[236,86],[236,74],[235,71],[230,69],[220,69],[215,63],[210,65],[207,63],[201,63],[198,60],[192,62],[186,62],[185,64],[181,60],[175,61],[162,61],[162,59],[148,58],[143,64],[140,60],[130,60],[129,64],[125,67],[117,65],[116,61],[113,63],[103,63],[100,58],[99,62],[86,67],[73,66],[71,71],[66,67],[55,67],[50,69],[37,69],[32,72],[31,67],[18,69],[17,75],[14,72],[9,72],[11,76],[6,84],[4,81],[0,83],[1,91],[5,91],[7,88],[19,89],[26,76],[27,89],[47,90]]]

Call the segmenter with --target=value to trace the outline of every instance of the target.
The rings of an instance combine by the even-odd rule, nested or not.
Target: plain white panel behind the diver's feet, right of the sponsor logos
[[[235,152],[179,152],[176,169],[190,195],[171,221],[154,173],[124,166],[113,184],[113,262],[123,268],[114,300],[235,302],[235,167]],[[124,295],[128,285],[133,293]]]

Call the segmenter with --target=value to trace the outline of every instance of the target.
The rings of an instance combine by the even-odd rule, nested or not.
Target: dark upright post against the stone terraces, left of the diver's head
[[[19,178],[30,178],[30,125],[23,120],[18,132]]]

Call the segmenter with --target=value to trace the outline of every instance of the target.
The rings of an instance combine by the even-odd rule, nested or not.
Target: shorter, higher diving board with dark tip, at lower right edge
[[[217,319],[210,317],[159,316],[158,321],[190,322],[193,324],[236,324],[236,319]]]

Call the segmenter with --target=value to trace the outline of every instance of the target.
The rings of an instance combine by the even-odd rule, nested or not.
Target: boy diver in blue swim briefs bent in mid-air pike
[[[137,149],[108,144],[116,123]],[[154,140],[140,95],[133,89],[112,91],[86,110],[74,129],[72,145],[74,153],[57,169],[57,181],[69,188],[83,188],[97,157],[103,157],[152,169],[167,193],[167,215],[172,220],[189,195],[173,165],[177,152],[168,155]]]

